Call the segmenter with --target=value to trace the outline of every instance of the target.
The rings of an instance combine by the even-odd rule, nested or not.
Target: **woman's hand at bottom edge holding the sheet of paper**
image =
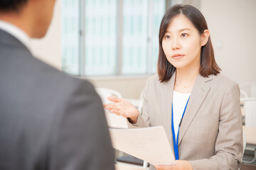
[[[155,165],[157,170],[193,170],[188,161],[177,160],[175,165]]]

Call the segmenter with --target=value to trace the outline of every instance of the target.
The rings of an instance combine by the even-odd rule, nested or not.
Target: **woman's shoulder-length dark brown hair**
[[[158,58],[158,74],[159,80],[161,82],[168,81],[171,79],[171,76],[176,72],[176,68],[166,59],[166,55],[164,54],[164,50],[162,47],[162,40],[166,33],[167,28],[169,27],[170,23],[174,20],[176,16],[179,14],[183,14],[188,18],[193,26],[198,30],[199,34],[201,35],[204,30],[208,30],[208,26],[206,23],[206,19],[203,17],[203,14],[195,7],[190,5],[174,5],[169,8],[160,25],[159,30],[159,58]],[[201,67],[200,67],[200,74],[203,77],[208,77],[210,74],[218,74],[220,73],[220,67],[215,62],[214,52],[213,52],[213,45],[211,43],[210,37],[208,38],[208,42],[206,45],[201,47]]]

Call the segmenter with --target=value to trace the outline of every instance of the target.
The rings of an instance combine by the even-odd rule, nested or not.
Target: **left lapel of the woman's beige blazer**
[[[171,103],[173,101],[175,77],[176,77],[176,73],[173,74],[173,76],[169,81],[161,83],[160,85],[161,106],[159,107],[159,109],[161,109],[161,118],[162,118],[164,130],[166,131],[166,135],[168,137],[168,140],[173,152],[174,152],[174,142],[173,142],[172,132],[171,132]]]

